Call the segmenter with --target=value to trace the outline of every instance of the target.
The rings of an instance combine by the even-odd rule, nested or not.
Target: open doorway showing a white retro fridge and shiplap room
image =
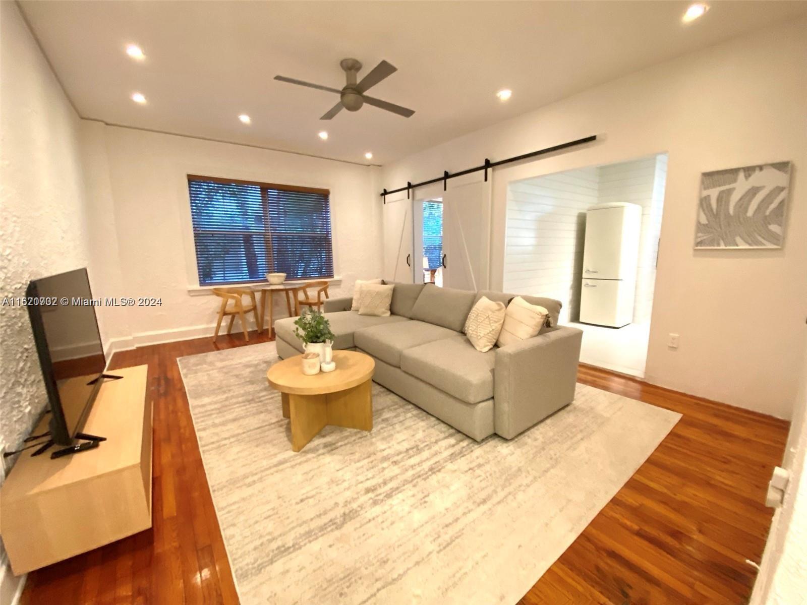
[[[644,377],[667,154],[511,181],[505,292],[555,298],[580,361]]]

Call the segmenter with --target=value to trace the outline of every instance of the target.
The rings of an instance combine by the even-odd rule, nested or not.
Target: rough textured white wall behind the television
[[[0,2],[0,284],[21,297],[31,278],[87,265],[79,119],[15,2]],[[15,449],[47,403],[24,307],[0,306],[0,444]],[[0,482],[3,474],[0,473]],[[0,547],[0,603],[22,587]]]

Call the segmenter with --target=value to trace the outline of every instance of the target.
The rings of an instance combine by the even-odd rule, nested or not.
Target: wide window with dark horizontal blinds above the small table
[[[328,190],[188,175],[199,285],[333,277]]]

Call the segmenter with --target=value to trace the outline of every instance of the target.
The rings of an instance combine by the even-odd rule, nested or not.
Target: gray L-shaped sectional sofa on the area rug
[[[350,311],[351,298],[325,303],[333,347],[374,357],[373,380],[475,440],[494,432],[512,439],[571,403],[583,332],[557,327],[561,303],[524,296],[550,311],[552,328],[479,353],[462,334],[482,296],[507,304],[515,294],[395,284],[391,315]],[[299,355],[295,318],[274,323],[278,355]]]

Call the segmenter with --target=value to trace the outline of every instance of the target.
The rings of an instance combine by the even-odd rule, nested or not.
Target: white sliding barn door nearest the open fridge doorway
[[[486,290],[491,249],[491,179],[482,173],[448,181],[443,193],[443,285]]]

